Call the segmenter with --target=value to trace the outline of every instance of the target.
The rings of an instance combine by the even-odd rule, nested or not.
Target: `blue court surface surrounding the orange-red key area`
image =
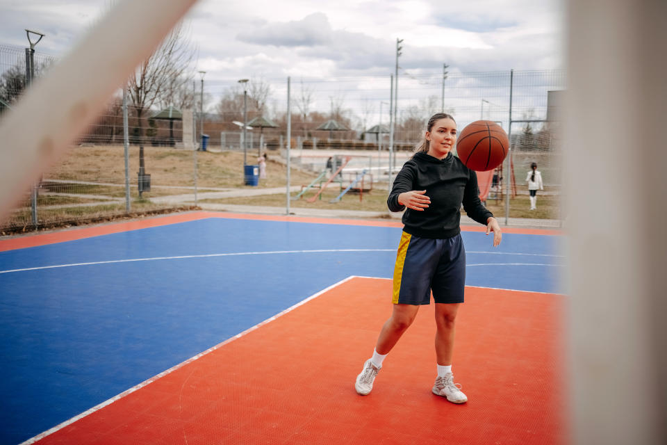
[[[0,252],[0,444],[17,444],[350,275],[399,227],[207,218]],[[559,236],[463,232],[468,286],[561,293]],[[390,301],[390,296],[387,296]]]

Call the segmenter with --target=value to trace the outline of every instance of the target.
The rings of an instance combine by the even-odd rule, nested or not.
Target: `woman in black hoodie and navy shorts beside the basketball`
[[[452,373],[454,323],[466,282],[461,204],[470,218],[486,225],[487,235],[493,232],[494,246],[500,244],[502,234],[493,214],[479,201],[477,175],[452,154],[455,143],[454,118],[445,113],[433,115],[387,199],[391,211],[407,210],[394,268],[393,313],[356,378],[354,388],[362,396],[370,393],[384,358],[412,324],[419,306],[429,304],[432,291],[438,371],[432,391],[453,403],[468,401],[460,385],[454,384]]]

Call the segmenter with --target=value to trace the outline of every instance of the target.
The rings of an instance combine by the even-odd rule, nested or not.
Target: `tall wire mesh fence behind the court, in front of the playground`
[[[56,60],[37,53],[34,57],[35,76],[48,75],[49,65]],[[1,120],[1,113],[26,88],[24,49],[0,46],[0,79]],[[395,174],[409,159],[429,117],[445,111],[454,115],[459,129],[484,119],[498,122],[510,133],[511,156],[495,172],[486,202],[497,216],[557,219],[560,130],[554,116],[565,81],[562,71],[446,75],[402,71],[398,82],[390,76],[293,77],[290,157],[302,176],[295,179],[293,173],[291,184],[308,184],[327,170],[333,156],[348,159],[346,175],[340,177],[365,171],[366,184],[374,184],[373,193],[386,197],[390,173]],[[392,92],[396,83],[397,92]],[[253,188],[245,181],[244,165],[256,164],[260,154],[273,161],[273,174],[254,193],[261,193],[261,188],[284,190],[287,79],[206,81],[203,92],[197,90],[192,86],[190,94],[197,101],[204,97],[203,115],[198,112],[199,103],[195,110],[128,106],[127,155],[119,93],[60,163],[44,172],[33,191],[26,191],[0,227],[16,230],[129,211],[189,207],[202,197]],[[44,105],[58,113],[57,104]],[[245,146],[243,122],[248,124]],[[202,133],[208,136],[207,147],[197,151]],[[390,147],[395,159],[390,158]],[[539,192],[538,211],[529,212],[526,175],[532,162],[542,172],[545,190]]]

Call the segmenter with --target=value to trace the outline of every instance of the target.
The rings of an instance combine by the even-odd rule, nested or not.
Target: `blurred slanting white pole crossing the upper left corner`
[[[112,93],[194,3],[117,3],[68,56],[26,91],[0,126],[0,216],[97,117]],[[45,106],[58,106],[61,112],[44,113]]]

